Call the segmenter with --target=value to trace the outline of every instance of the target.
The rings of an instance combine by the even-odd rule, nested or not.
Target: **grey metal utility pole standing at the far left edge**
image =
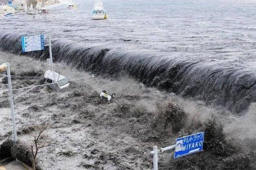
[[[12,79],[11,79],[11,72],[10,72],[9,62],[6,62],[6,66],[7,66],[9,96],[10,96],[11,113],[12,113],[13,139],[14,139],[14,142],[17,142],[17,132],[16,132],[16,125],[15,125],[15,113],[14,113],[14,104],[13,104],[13,96],[12,96]]]

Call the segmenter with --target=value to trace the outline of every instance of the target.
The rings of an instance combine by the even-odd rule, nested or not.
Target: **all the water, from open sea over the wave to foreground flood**
[[[45,34],[51,35],[53,40],[55,65],[65,70],[64,74],[70,75],[68,78],[74,77],[73,68],[77,68],[77,78],[86,76],[80,72],[82,70],[110,76],[114,80],[99,76],[86,83],[73,84],[72,90],[59,95],[43,88],[17,100],[21,103],[15,108],[19,128],[24,124],[40,124],[44,121],[52,125],[48,131],[52,144],[40,153],[42,167],[54,170],[74,167],[151,169],[152,156],[145,152],[149,153],[154,145],[168,146],[178,136],[166,131],[164,140],[158,140],[157,136],[161,136],[162,131],[148,126],[149,122],[157,120],[157,103],[163,101],[175,102],[184,107],[185,112],[189,113],[189,130],[194,127],[191,124],[201,125],[212,114],[217,115],[218,121],[223,120],[228,139],[234,139],[235,143],[252,143],[246,148],[255,152],[256,1],[103,0],[108,20],[91,20],[93,0],[76,2],[78,10],[67,10],[67,3],[63,1],[50,6],[47,15],[0,18],[0,50],[14,53],[10,55],[11,59],[9,53],[3,53],[0,60],[14,62],[16,71],[21,68],[29,70],[30,67],[41,71],[47,68],[45,62],[39,63],[16,55],[21,54],[21,36]],[[26,56],[45,61],[49,51],[46,47],[44,51],[26,53]],[[17,57],[23,61],[20,62]],[[135,80],[114,79],[122,74]],[[170,93],[145,88],[137,84],[137,80],[179,96],[173,97]],[[27,83],[26,80],[15,80],[14,85],[18,88],[27,86]],[[1,88],[6,89],[5,86]],[[119,95],[113,105],[96,104],[103,89],[111,89]],[[88,96],[91,101],[84,96]],[[7,96],[2,99],[6,101]],[[210,105],[210,108],[205,107],[205,104]],[[244,114],[234,116],[219,109],[219,106],[224,106],[231,113]],[[130,115],[129,107],[139,108],[143,114]],[[215,107],[217,111],[212,109]],[[0,135],[7,133],[11,127],[9,111],[7,108],[2,111],[1,122],[6,128],[1,129]],[[195,117],[200,119],[200,123],[194,121]],[[199,131],[196,128],[192,130]],[[221,142],[218,143],[225,148]],[[239,151],[244,150],[241,147]],[[69,152],[74,156],[67,158]],[[220,160],[234,160],[229,164],[234,166],[240,163],[239,160],[242,160],[241,165],[246,164],[247,159],[238,153],[234,155],[239,159],[234,159],[233,155],[221,159],[210,155],[191,162],[203,160],[200,166],[207,166],[209,161],[214,160],[212,162],[217,162],[218,167]],[[255,155],[249,157],[254,163]],[[102,158],[107,163],[101,161]],[[172,160],[166,159],[160,168],[177,169],[169,166],[169,163],[177,165]],[[181,169],[185,168],[181,166]]]

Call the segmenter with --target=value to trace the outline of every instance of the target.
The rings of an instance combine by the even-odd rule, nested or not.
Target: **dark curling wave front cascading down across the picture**
[[[0,34],[0,50],[21,54],[20,34]],[[221,105],[242,113],[256,102],[256,74],[239,65],[207,62],[203,59],[164,56],[151,51],[120,48],[86,48],[78,43],[52,41],[54,62],[65,62],[81,71],[119,77],[128,75],[149,87],[184,97]],[[49,58],[49,48],[26,55]]]

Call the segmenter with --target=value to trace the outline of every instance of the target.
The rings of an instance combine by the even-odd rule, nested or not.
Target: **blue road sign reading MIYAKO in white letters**
[[[204,132],[176,139],[174,158],[203,150]]]

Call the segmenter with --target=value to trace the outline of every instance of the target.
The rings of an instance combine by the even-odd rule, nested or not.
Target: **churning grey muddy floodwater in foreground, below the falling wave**
[[[28,56],[0,53],[0,62],[9,61],[14,75],[43,74],[48,67],[46,62]],[[64,63],[57,63],[54,67],[68,79],[91,77],[86,72],[70,69]],[[12,79],[12,83],[16,89],[41,84],[41,80]],[[116,93],[109,105],[99,102],[103,89]],[[6,90],[7,85],[2,83],[0,144],[12,138]],[[207,167],[207,170],[223,170],[224,167],[225,170],[253,170],[256,167],[253,161],[256,158],[255,105],[251,105],[244,116],[234,116],[223,108],[215,109],[203,101],[183,99],[173,93],[147,88],[127,77],[119,80],[94,77],[71,82],[70,88],[58,93],[47,87],[15,91],[14,102],[18,138],[23,144],[28,144],[31,138],[28,129],[48,124],[49,143],[38,155],[38,163],[43,169],[150,170],[152,146],[166,147],[174,144],[177,137],[204,131],[205,122],[214,117],[220,123],[213,124],[210,126],[212,130],[206,131],[212,139],[205,139],[208,147],[203,153],[176,161],[172,153],[162,153],[159,168],[189,170],[192,164],[192,170],[201,167]],[[180,105],[187,115],[178,133],[170,125],[164,129],[162,108],[169,102]]]

